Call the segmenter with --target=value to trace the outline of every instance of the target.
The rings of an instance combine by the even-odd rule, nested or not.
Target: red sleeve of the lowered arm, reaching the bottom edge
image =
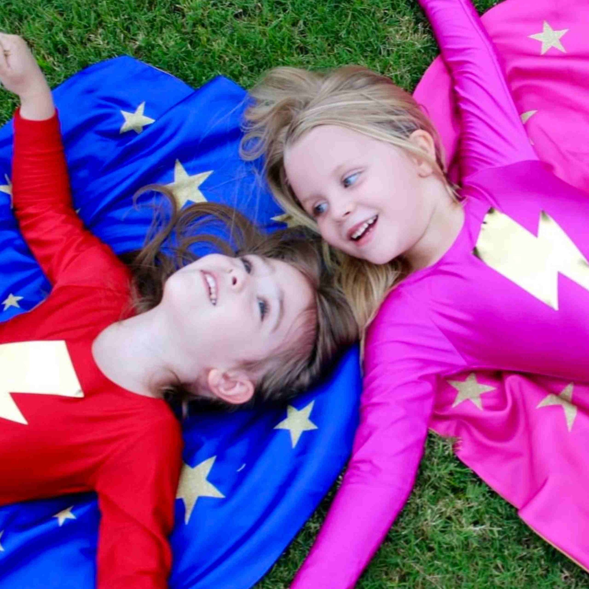
[[[102,465],[97,589],[168,587],[174,502],[181,468],[177,422],[151,425]]]

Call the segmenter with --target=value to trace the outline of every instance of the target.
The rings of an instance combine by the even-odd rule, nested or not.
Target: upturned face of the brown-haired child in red
[[[297,318],[313,301],[309,281],[290,264],[210,254],[168,278],[160,305],[184,355],[223,371],[296,342]]]

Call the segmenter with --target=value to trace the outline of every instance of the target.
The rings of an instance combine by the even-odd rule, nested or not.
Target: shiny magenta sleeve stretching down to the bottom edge
[[[292,587],[354,587],[413,487],[437,375],[463,365],[410,297],[400,290],[388,297],[367,336],[352,459]]]

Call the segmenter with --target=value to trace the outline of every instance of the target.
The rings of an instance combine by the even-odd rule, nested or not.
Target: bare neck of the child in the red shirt
[[[92,343],[94,361],[108,379],[154,398],[176,382],[178,352],[159,307],[112,323]]]

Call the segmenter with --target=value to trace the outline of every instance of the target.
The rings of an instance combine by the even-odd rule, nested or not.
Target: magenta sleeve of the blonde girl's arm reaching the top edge
[[[452,75],[461,117],[465,178],[489,167],[537,160],[495,46],[470,0],[419,0]]]

